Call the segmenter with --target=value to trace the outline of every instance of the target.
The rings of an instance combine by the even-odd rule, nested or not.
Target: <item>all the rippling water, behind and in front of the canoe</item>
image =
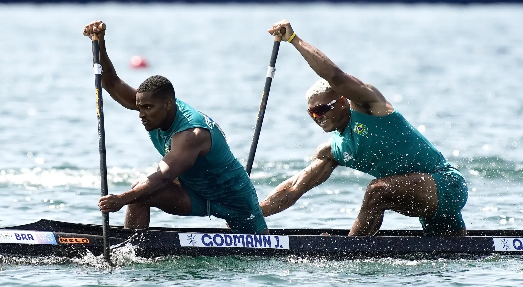
[[[523,6],[85,5],[0,6],[0,225],[41,218],[100,223],[98,142],[90,41],[84,24],[108,25],[109,56],[122,79],[169,78],[177,96],[210,115],[244,163],[272,38],[288,18],[342,69],[374,84],[456,164],[469,182],[469,229],[523,229]],[[140,54],[150,68],[132,70]],[[282,43],[252,179],[264,198],[308,165],[329,135],[304,112],[317,80]],[[106,94],[111,193],[155,170],[160,155],[138,114]],[[337,168],[270,227],[350,228],[371,176]],[[123,223],[123,211],[111,224]],[[219,218],[152,211],[153,226],[223,227]],[[420,229],[388,212],[385,229]],[[0,284],[79,285],[521,285],[523,261],[311,258],[0,257]]]

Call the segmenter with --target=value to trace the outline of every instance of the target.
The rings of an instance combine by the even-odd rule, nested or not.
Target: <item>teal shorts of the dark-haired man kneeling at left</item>
[[[191,216],[215,216],[225,219],[233,233],[260,234],[267,229],[256,192],[231,195],[221,201],[208,201],[187,190],[191,200]]]

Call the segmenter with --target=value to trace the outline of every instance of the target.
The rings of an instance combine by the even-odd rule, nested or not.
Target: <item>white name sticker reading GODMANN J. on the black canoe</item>
[[[183,247],[248,247],[289,249],[286,235],[245,235],[218,233],[179,233]]]

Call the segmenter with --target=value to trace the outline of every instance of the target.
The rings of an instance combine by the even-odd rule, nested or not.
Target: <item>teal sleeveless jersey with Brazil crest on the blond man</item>
[[[394,109],[378,117],[350,109],[343,134],[331,137],[335,160],[376,178],[411,172],[436,172],[451,165],[430,141]]]

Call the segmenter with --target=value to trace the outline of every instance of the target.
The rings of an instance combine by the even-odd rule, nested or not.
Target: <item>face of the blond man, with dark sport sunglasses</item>
[[[321,93],[315,96],[312,96],[308,99],[308,108],[316,107],[319,105],[327,105],[332,101],[336,101],[334,104],[331,104],[329,107],[323,107],[327,111],[323,114],[316,114],[316,117],[312,117],[314,122],[317,125],[323,128],[323,130],[328,133],[340,128],[340,125],[343,124],[343,115],[345,112],[345,107],[348,104],[347,100],[344,97],[340,97],[335,92],[326,92]],[[332,109],[330,109],[332,107]],[[321,111],[321,109],[319,109]]]

